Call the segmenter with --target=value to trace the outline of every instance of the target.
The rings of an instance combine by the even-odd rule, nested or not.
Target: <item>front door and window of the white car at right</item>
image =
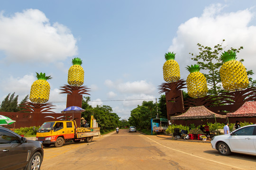
[[[254,128],[255,126],[242,127],[233,132],[229,137],[230,147],[233,152],[255,153],[254,146]]]

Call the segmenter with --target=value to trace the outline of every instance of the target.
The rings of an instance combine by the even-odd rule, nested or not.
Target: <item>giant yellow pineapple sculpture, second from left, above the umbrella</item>
[[[81,86],[83,84],[84,71],[81,67],[82,59],[72,59],[72,64],[68,70],[68,84],[71,86]]]

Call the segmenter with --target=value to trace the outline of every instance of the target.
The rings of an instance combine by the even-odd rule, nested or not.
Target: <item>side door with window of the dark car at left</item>
[[[20,143],[20,137],[5,129],[0,129],[1,170],[16,170],[27,164],[27,147]]]

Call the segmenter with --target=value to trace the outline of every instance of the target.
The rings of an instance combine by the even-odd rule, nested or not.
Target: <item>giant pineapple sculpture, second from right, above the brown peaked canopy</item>
[[[199,65],[187,67],[190,74],[187,77],[188,95],[192,98],[204,97],[208,93],[207,82],[205,76],[200,73]]]

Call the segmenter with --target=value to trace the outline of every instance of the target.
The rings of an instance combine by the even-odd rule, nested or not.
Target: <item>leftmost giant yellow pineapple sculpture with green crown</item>
[[[51,79],[46,73],[37,73],[37,80],[31,85],[29,99],[34,103],[46,103],[49,100],[50,85],[46,81]]]

